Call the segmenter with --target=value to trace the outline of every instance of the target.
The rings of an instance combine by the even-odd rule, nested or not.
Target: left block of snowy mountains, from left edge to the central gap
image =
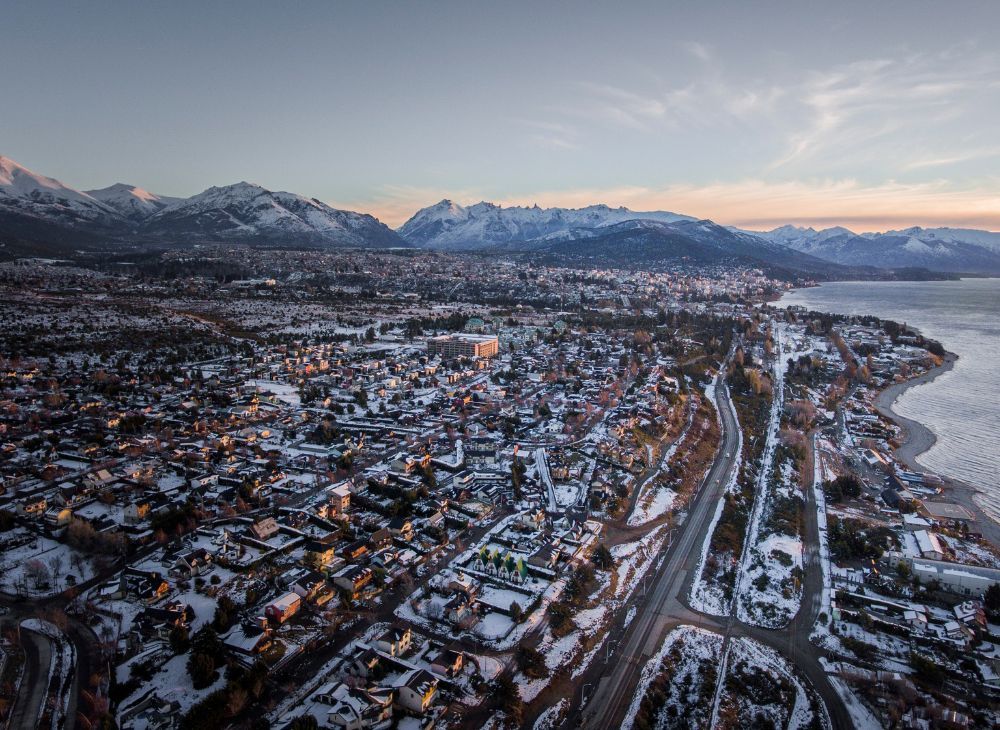
[[[268,245],[408,245],[376,218],[316,199],[237,183],[169,198],[118,183],[82,192],[0,157],[0,245],[58,253],[127,241]]]

